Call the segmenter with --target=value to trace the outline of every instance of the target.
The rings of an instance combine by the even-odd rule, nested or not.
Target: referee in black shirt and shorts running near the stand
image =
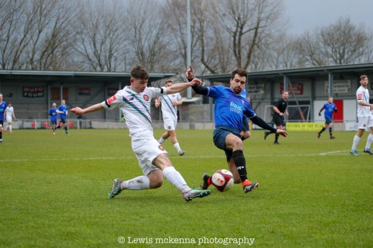
[[[277,129],[284,129],[285,130],[285,118],[284,116],[289,116],[288,113],[288,97],[289,97],[289,92],[284,91],[282,93],[282,98],[278,100],[274,106],[273,106],[273,122],[276,124]],[[267,138],[268,135],[274,134],[274,132],[264,132],[264,140]],[[273,144],[279,145],[280,143],[278,142],[278,134],[276,134],[274,138]]]

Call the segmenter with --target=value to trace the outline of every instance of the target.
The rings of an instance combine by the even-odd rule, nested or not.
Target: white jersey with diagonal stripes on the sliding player
[[[126,86],[101,104],[105,109],[119,107],[122,110],[131,137],[136,133],[141,134],[143,132],[153,135],[152,118],[150,115],[151,101],[153,97],[166,93],[166,88],[154,87],[146,87],[144,92],[137,93]]]

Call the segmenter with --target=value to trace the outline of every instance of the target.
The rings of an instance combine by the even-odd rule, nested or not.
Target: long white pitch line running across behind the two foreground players
[[[349,150],[342,150],[342,151],[332,151],[327,153],[320,153],[320,154],[288,154],[288,155],[245,155],[245,157],[276,157],[276,156],[287,156],[287,157],[298,157],[298,156],[324,156],[324,155],[334,155],[343,153],[340,155],[350,155]],[[217,158],[217,157],[225,157],[223,155],[216,155],[216,156],[170,156],[171,158],[185,158],[185,159],[194,159],[194,158]],[[109,160],[109,159],[134,159],[136,160],[135,156],[125,156],[125,157],[83,157],[83,158],[76,158],[76,157],[63,157],[63,158],[28,158],[28,159],[2,159],[0,162],[28,162],[28,161],[68,161],[68,160]]]

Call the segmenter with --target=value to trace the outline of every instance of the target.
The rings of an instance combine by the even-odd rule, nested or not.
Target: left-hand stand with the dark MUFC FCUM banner
[[[150,73],[148,85],[175,75]],[[65,99],[68,109],[76,106],[85,108],[130,85],[130,78],[129,72],[0,70],[0,93],[4,101],[13,104],[18,125],[31,128],[35,126],[32,126],[35,120],[39,120],[41,125],[49,121],[48,110],[52,103],[59,106]],[[68,118],[77,119],[72,113],[68,114]],[[121,113],[119,109],[98,111],[90,113],[89,118],[120,122]]]

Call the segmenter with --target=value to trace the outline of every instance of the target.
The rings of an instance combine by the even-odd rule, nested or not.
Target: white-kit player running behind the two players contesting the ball
[[[165,82],[165,87],[168,88],[173,85],[172,80],[167,80]],[[162,118],[164,127],[167,130],[162,137],[158,140],[162,144],[165,140],[171,137],[171,142],[173,147],[179,155],[184,155],[186,152],[180,148],[179,141],[176,138],[176,125],[177,125],[177,106],[182,105],[183,100],[180,93],[162,95],[156,98],[155,108],[162,106]]]

